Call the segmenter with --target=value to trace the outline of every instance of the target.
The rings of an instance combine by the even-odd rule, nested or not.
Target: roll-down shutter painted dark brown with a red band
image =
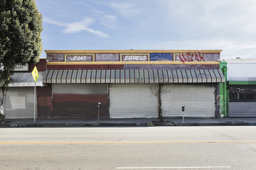
[[[53,118],[108,117],[108,84],[53,84]]]

